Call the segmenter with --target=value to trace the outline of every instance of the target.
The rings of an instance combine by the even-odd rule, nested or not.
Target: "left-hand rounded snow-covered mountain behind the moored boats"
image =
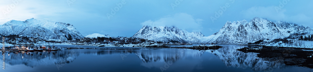
[[[11,20],[4,23],[0,27],[0,33],[1,36],[18,35],[44,40],[68,40],[69,37],[72,39],[84,38],[72,24],[34,18],[25,21]]]

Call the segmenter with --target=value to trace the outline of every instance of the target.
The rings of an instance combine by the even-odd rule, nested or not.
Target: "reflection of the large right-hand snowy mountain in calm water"
[[[222,45],[223,48],[218,50],[207,50],[207,52],[217,55],[228,67],[242,69],[252,69],[254,71],[265,71],[274,68],[285,68],[285,64],[264,61],[257,57],[258,53],[244,53],[236,49],[247,46],[240,45]]]

